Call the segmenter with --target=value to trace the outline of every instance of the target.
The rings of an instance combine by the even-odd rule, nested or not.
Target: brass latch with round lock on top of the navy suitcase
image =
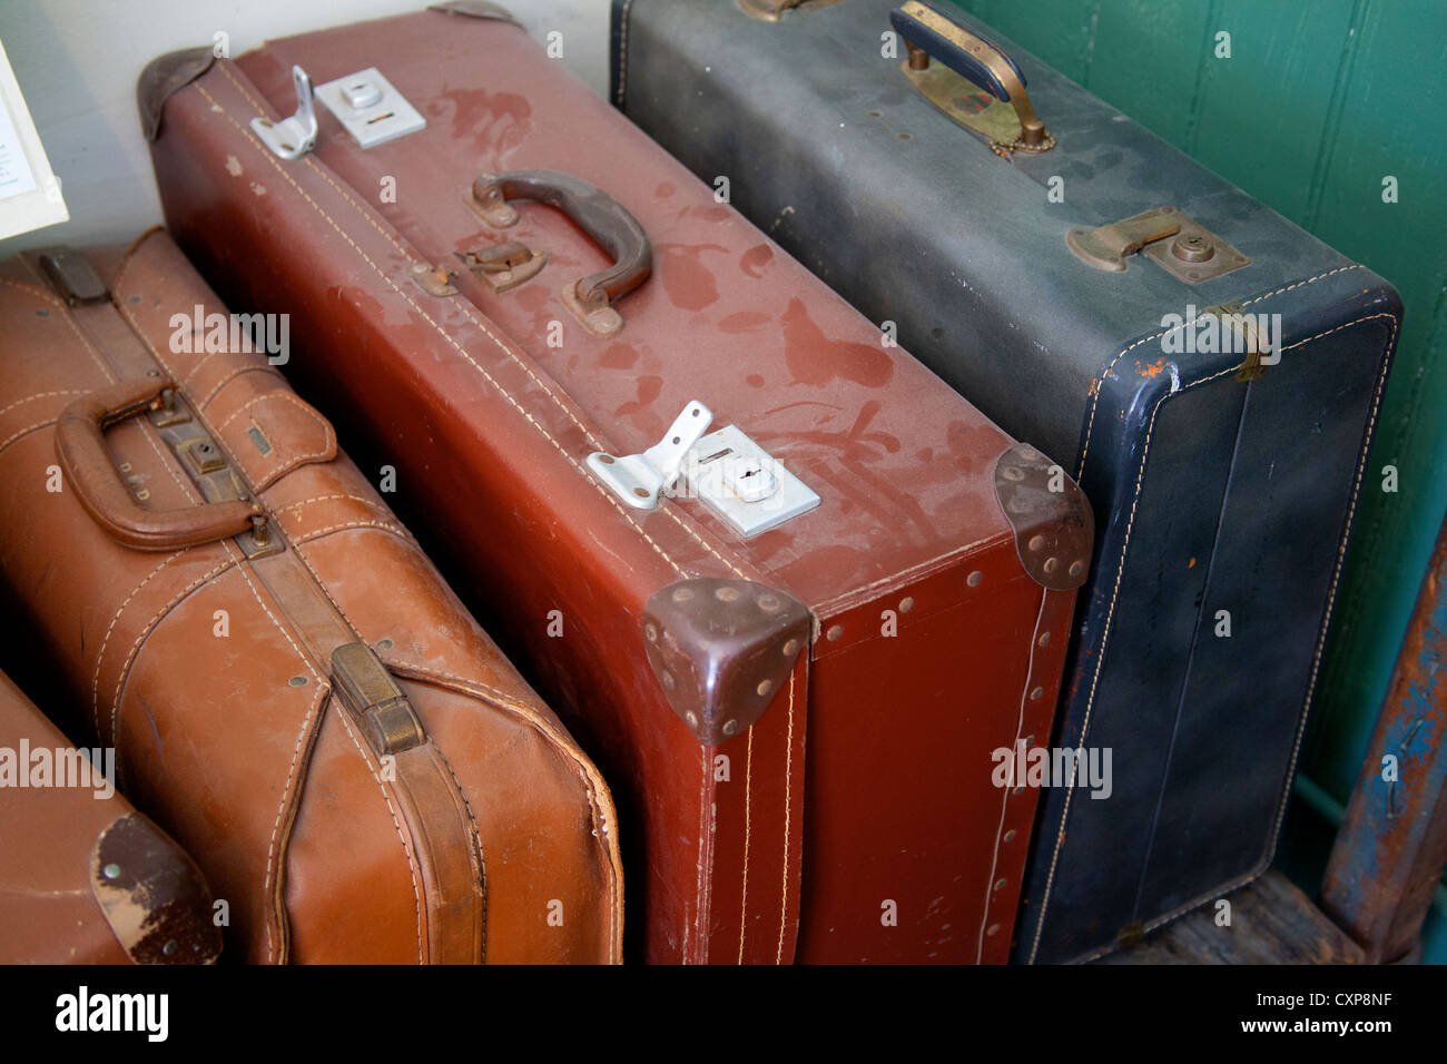
[[[1252,262],[1175,207],[1156,207],[1095,229],[1072,229],[1065,243],[1095,269],[1116,272],[1126,268],[1127,256],[1143,252],[1187,284],[1201,284]]]

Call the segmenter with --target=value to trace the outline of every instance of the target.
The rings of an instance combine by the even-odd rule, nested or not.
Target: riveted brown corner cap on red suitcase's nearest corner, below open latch
[[[809,646],[803,602],[752,580],[696,578],[654,592],[644,651],[664,698],[703,746],[742,734]]]

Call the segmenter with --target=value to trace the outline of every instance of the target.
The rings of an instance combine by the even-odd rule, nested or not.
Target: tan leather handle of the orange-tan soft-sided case
[[[96,524],[136,550],[179,550],[239,536],[260,515],[255,502],[211,502],[185,510],[146,510],[120,481],[106,450],[106,428],[161,405],[175,385],[164,378],[122,381],[82,395],[55,423],[55,456],[65,482]]]

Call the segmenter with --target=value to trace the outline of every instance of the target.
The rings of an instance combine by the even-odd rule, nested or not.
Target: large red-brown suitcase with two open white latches
[[[1049,459],[492,4],[169,55],[140,101],[178,240],[292,314],[614,782],[634,955],[1004,961],[1037,792],[991,756],[1048,741],[1091,544]]]

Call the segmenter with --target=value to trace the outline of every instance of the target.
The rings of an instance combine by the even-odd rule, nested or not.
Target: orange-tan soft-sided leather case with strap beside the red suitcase
[[[236,954],[618,960],[602,779],[253,350],[282,320],[159,230],[4,263],[0,320],[0,570]]]

